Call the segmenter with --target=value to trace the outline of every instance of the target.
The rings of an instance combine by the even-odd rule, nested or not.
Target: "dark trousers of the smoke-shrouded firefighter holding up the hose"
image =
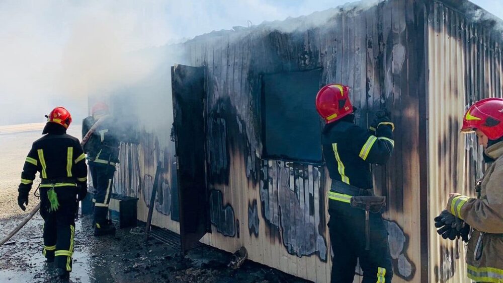
[[[93,202],[94,206],[94,222],[103,224],[106,222],[108,213],[108,204],[112,194],[114,183],[115,167],[107,164],[93,164],[90,162],[89,168],[91,178],[93,179],[93,187],[95,189]]]

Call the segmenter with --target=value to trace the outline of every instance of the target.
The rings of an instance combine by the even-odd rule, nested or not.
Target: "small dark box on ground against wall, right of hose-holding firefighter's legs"
[[[136,203],[138,198],[112,194],[108,206],[109,219],[119,223],[119,228],[136,226]]]

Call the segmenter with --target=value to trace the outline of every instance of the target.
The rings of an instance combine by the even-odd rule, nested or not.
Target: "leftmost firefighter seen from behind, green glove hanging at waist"
[[[40,215],[44,219],[43,255],[56,261],[58,275],[69,278],[78,201],[87,193],[86,156],[77,138],[66,134],[70,113],[54,108],[47,117],[41,138],[26,157],[18,188],[18,205],[25,210],[35,173],[40,172]]]

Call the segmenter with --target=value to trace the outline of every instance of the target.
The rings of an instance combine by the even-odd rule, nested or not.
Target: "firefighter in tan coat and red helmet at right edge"
[[[484,148],[487,169],[476,189],[478,197],[451,193],[446,210],[472,228],[466,251],[468,277],[478,282],[501,282],[503,99],[482,99],[470,106],[465,113],[461,132],[477,134],[478,143]]]

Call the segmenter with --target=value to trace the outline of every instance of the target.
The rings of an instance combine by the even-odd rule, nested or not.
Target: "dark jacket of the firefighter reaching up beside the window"
[[[361,189],[373,187],[370,164],[385,164],[394,147],[391,125],[374,133],[350,119],[326,124],[321,143],[330,178]]]

